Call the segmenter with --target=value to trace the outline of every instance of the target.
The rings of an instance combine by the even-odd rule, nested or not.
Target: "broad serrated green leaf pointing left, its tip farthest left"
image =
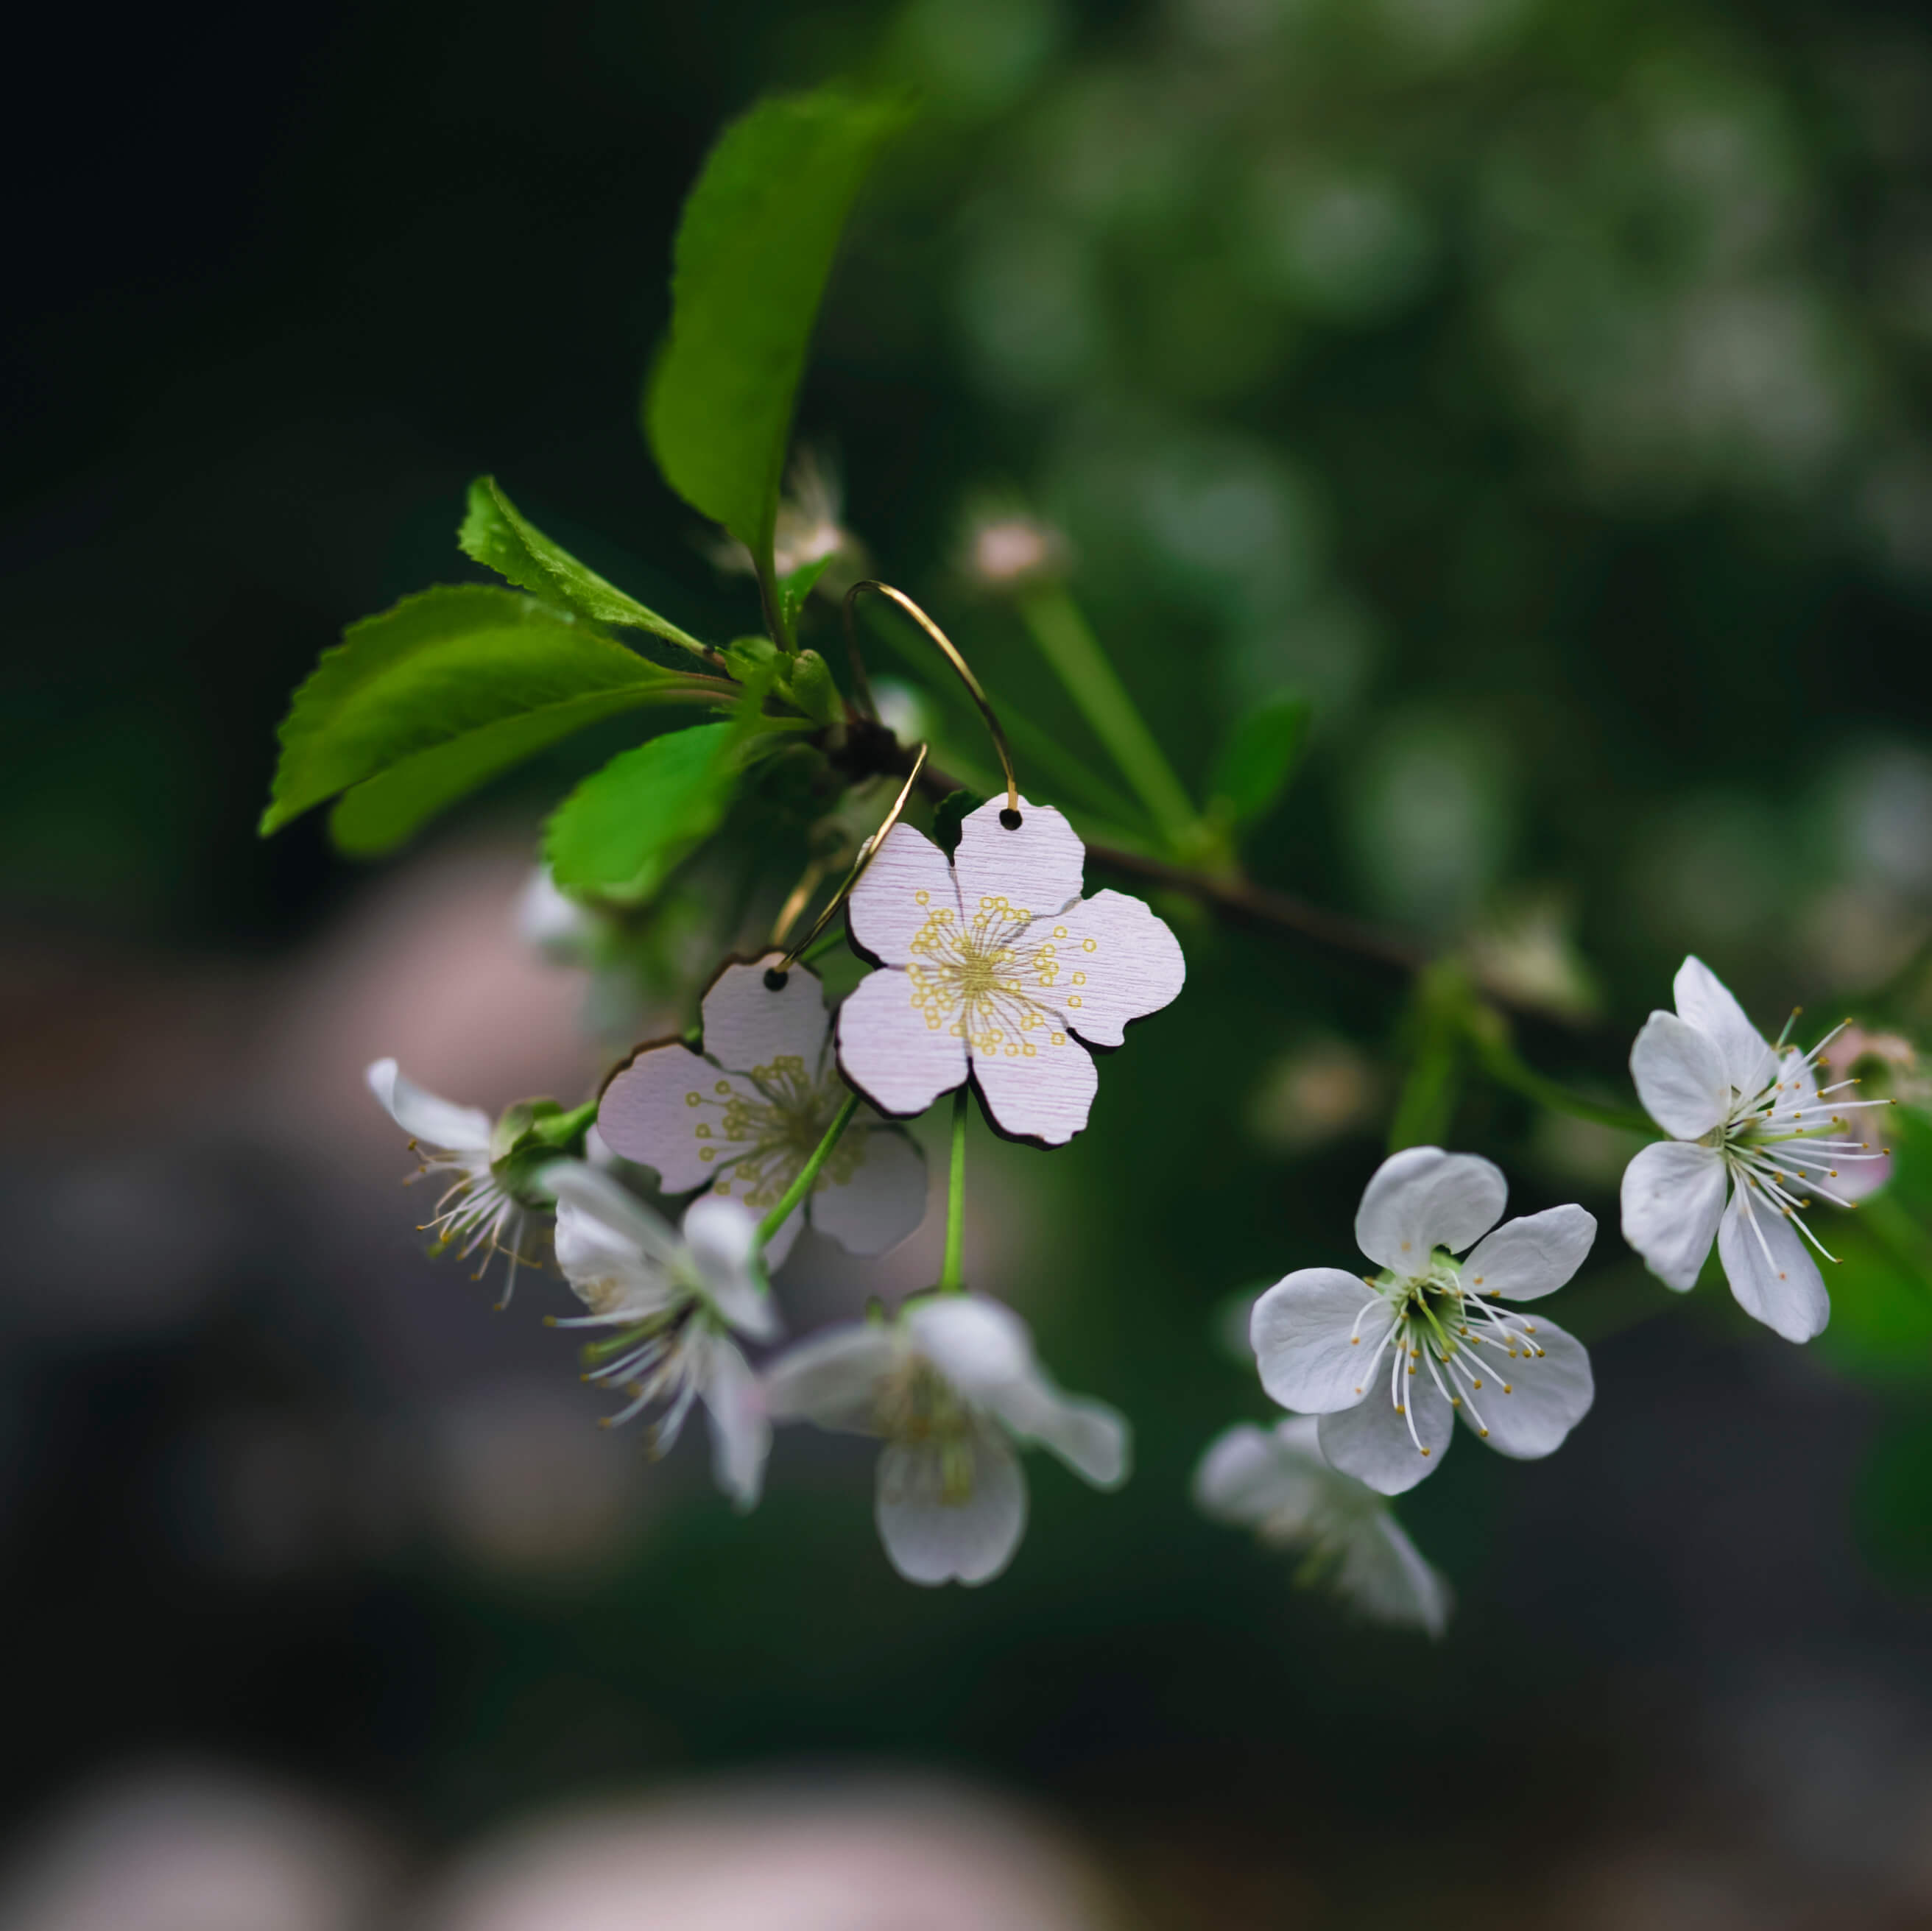
[[[355,786],[344,828],[381,850],[566,732],[696,689],[512,591],[423,591],[352,624],[296,691],[261,834]]]

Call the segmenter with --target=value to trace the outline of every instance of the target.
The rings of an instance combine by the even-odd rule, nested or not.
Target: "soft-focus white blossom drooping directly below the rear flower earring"
[[[769,1340],[779,1330],[757,1267],[757,1222],[738,1201],[705,1195],[672,1232],[609,1174],[576,1161],[545,1168],[543,1182],[556,1195],[556,1265],[589,1309],[554,1325],[616,1330],[591,1350],[587,1375],[630,1396],[605,1427],[659,1408],[651,1446],[665,1454],[703,1402],[717,1485],[752,1508],[771,1423],[732,1334]]]

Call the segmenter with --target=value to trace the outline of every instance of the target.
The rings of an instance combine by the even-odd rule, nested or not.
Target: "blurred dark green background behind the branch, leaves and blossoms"
[[[800,429],[1009,703],[1101,763],[960,577],[987,490],[1066,533],[1188,782],[1244,707],[1314,701],[1250,871],[1476,944],[1544,1070],[1623,1097],[1689,950],[1772,1029],[1891,985],[1861,1018],[1922,1039],[1922,15],[412,0],[97,31],[33,25],[17,71],[56,79],[10,133],[19,1856],[156,1755],[321,1792],[412,1871],[614,1788],[858,1767],[1049,1819],[1092,1923],[1932,1912],[1932,1135],[1799,1352],[1716,1276],[1683,1303],[1642,1276],[1631,1141],[1470,1083],[1455,1143],[1520,1211],[1604,1222],[1561,1315],[1598,1406],[1549,1462],[1464,1448],[1414,1495],[1457,1624],[1368,1632],[1186,1479],[1267,1412],[1227,1298],[1349,1265],[1405,985],[1163,902],[1188,994],[1109,1060],[1092,1130],[972,1153],[974,1284],[1134,1417],[1138,1473],[1109,1498],[1036,1466],[1012,1572],[927,1595],[879,1556],[864,1452],[782,1437],[734,1520],[692,1448],[641,1468],[589,1427],[535,1319],[558,1288],[493,1317],[386,1191],[377,1052],[481,1103],[595,1077],[582,981],[514,902],[533,813],[622,736],[375,873],[319,821],[253,836],[315,655],[475,574],[479,471],[686,628],[755,628],[649,465],[639,378],[721,120],[864,71],[923,116]],[[923,1253],[802,1249],[794,1327]]]

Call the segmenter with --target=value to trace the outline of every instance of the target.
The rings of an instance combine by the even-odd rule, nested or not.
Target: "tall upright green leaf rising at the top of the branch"
[[[645,398],[665,481],[769,566],[792,402],[852,197],[904,120],[838,87],[761,100],[684,205]]]

